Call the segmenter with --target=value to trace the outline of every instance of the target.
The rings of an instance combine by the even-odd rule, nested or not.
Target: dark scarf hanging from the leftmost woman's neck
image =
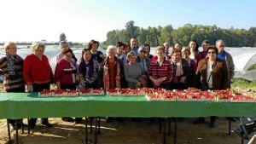
[[[8,75],[16,75],[15,73],[15,63],[22,60],[22,58],[19,55],[9,55],[9,53],[6,53],[6,59],[7,63],[7,69],[8,69]]]

